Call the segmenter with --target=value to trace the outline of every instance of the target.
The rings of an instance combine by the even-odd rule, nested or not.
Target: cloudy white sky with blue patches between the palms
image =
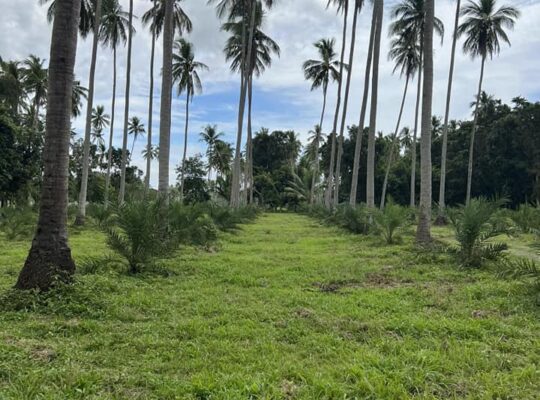
[[[404,80],[393,74],[393,63],[387,57],[390,13],[396,0],[385,2],[381,65],[379,72],[379,104],[377,130],[389,134],[395,128]],[[467,0],[462,1],[466,3]],[[0,0],[0,56],[5,60],[26,58],[29,54],[43,59],[49,58],[51,26],[46,18],[46,6],[38,0]],[[128,0],[120,0],[125,10]],[[369,2],[366,2],[369,4]],[[498,0],[498,4],[519,7],[522,12],[514,31],[509,33],[512,46],[503,46],[501,54],[489,60],[486,65],[484,90],[504,102],[516,96],[531,101],[540,101],[540,0]],[[150,7],[148,0],[134,0],[134,14],[138,17]],[[274,57],[272,66],[254,82],[253,127],[272,130],[294,130],[305,143],[308,132],[318,123],[322,108],[322,92],[311,91],[310,83],[305,81],[302,64],[305,60],[317,58],[313,43],[321,38],[335,38],[336,50],[341,46],[342,17],[335,9],[327,9],[327,0],[279,0],[268,12],[263,31],[272,37],[281,48],[281,55]],[[223,55],[227,33],[220,30],[221,22],[207,0],[183,0],[182,7],[193,22],[193,31],[185,38],[195,46],[195,56],[209,66],[209,71],[200,73],[203,93],[190,104],[188,155],[205,152],[199,133],[208,124],[218,125],[224,139],[234,142],[236,138],[236,115],[240,80],[230,72]],[[434,48],[434,115],[442,116],[446,100],[448,69],[450,64],[451,37],[454,25],[455,1],[437,0],[435,14],[445,25],[445,37],[441,44],[435,42]],[[363,91],[365,59],[369,40],[371,9],[365,7],[357,28],[355,58],[352,68],[352,83],[347,112],[347,125],[358,124],[360,103]],[[136,34],[133,38],[132,79],[129,116],[138,116],[147,126],[149,69],[151,35],[140,22],[134,22]],[[350,31],[349,31],[350,32]],[[91,36],[86,40],[79,38],[75,74],[84,86],[88,86],[91,58]],[[347,46],[350,44],[348,38]],[[464,119],[470,116],[470,102],[477,90],[480,73],[479,60],[472,60],[461,50],[458,43],[454,90],[452,94],[451,118]],[[125,66],[127,51],[118,51],[118,84],[116,99],[116,118],[114,145],[121,146]],[[153,141],[159,135],[159,102],[161,77],[161,41],[157,43],[156,79],[154,93]],[[96,67],[94,106],[103,104],[110,114],[112,96],[113,57],[109,48],[100,47]],[[403,126],[414,123],[415,90],[410,90],[407,98]],[[337,85],[330,86],[328,106],[325,116],[324,132],[331,130],[335,112]],[[83,108],[83,115],[85,114]],[[185,99],[173,96],[171,171],[179,164],[183,149],[185,127]],[[73,122],[78,132],[84,131],[84,118]],[[108,140],[108,139],[107,139]],[[135,145],[134,163],[145,170],[141,152],[146,138],[139,139]],[[153,163],[151,184],[157,186],[157,162]],[[175,179],[171,173],[171,183]]]

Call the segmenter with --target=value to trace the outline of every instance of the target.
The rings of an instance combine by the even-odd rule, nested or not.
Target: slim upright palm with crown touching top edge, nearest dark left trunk
[[[111,184],[112,150],[114,137],[114,121],[116,111],[116,55],[118,45],[126,44],[129,29],[129,14],[123,11],[118,0],[105,0],[103,5],[103,18],[101,21],[100,36],[103,43],[109,45],[113,51],[113,87],[111,104],[111,124],[109,130],[109,149],[107,153],[107,174],[105,176],[105,205],[109,202],[109,186]],[[134,29],[133,26],[131,29]]]

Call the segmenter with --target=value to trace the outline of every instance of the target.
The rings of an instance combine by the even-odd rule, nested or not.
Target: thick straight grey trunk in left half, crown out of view
[[[172,105],[172,52],[174,0],[165,1],[163,24],[163,72],[161,79],[161,110],[159,117],[159,184],[158,190],[165,201],[169,193],[169,158],[171,149]]]

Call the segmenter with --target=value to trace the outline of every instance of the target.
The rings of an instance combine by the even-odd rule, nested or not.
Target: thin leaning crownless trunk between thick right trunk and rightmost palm
[[[441,183],[439,186],[439,220],[444,219],[446,208],[446,155],[448,152],[448,119],[450,117],[450,100],[452,98],[452,83],[454,80],[454,64],[456,61],[457,30],[459,27],[459,11],[461,0],[457,0],[456,19],[454,23],[454,36],[452,38],[452,53],[450,56],[450,72],[448,73],[448,90],[446,92],[446,111],[444,113],[443,143],[441,152]],[[442,221],[441,221],[442,222]]]

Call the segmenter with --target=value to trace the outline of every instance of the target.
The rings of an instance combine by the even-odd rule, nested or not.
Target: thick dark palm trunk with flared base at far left
[[[57,0],[51,39],[43,183],[37,229],[17,289],[49,289],[75,272],[67,232],[73,69],[81,2]]]

